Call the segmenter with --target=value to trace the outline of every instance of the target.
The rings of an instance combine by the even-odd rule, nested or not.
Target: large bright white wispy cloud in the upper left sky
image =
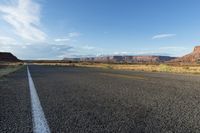
[[[46,34],[40,26],[40,5],[32,0],[13,0],[0,5],[3,20],[10,24],[22,39],[41,42]]]

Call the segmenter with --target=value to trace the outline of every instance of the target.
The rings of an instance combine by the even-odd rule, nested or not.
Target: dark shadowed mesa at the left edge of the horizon
[[[12,53],[9,52],[0,52],[0,62],[18,62],[20,61],[14,56]]]

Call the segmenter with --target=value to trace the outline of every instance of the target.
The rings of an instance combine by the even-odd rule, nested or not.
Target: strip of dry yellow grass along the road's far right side
[[[93,67],[115,70],[133,70],[147,72],[170,72],[170,73],[189,73],[200,74],[200,65],[167,65],[167,64],[106,64],[106,63],[33,63],[37,65],[55,65],[55,66],[71,66],[71,67]]]

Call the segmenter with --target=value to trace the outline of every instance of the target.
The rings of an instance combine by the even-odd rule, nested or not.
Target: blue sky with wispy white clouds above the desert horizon
[[[0,51],[21,59],[182,56],[200,44],[199,0],[1,0]]]

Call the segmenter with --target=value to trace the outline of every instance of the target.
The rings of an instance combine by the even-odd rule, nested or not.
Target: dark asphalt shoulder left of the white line
[[[0,78],[0,133],[32,132],[26,67]]]

